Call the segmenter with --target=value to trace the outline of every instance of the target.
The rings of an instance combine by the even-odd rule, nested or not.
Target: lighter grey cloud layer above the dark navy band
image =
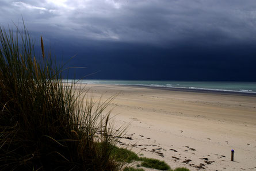
[[[23,15],[32,31],[92,40],[226,44],[256,40],[256,2],[2,1],[1,23]]]

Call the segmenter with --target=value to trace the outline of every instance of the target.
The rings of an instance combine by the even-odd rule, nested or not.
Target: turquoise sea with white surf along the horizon
[[[71,81],[71,80],[69,80]],[[84,84],[140,85],[148,87],[185,88],[190,90],[211,90],[244,92],[256,94],[256,82],[225,81],[143,81],[143,80],[79,80]]]

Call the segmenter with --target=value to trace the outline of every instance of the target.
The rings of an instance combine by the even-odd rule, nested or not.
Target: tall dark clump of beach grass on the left
[[[104,112],[113,97],[86,99],[43,38],[41,56],[34,44],[25,25],[0,28],[0,170],[121,170],[110,155],[121,133]]]

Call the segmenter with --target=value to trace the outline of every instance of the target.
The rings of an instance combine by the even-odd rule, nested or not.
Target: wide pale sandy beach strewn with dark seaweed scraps
[[[88,84],[110,103],[119,145],[190,170],[256,170],[256,96]],[[235,150],[234,162],[231,150]],[[135,166],[136,167],[136,166]]]

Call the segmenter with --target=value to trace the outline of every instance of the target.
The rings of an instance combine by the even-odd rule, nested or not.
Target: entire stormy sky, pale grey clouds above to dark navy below
[[[255,0],[0,0],[0,16],[77,54],[79,76],[256,81]]]

